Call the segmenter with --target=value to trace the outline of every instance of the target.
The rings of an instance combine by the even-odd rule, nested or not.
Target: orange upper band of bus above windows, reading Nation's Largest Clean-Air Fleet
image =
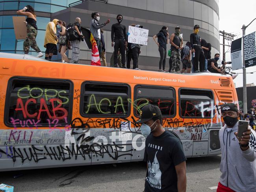
[[[230,86],[228,87],[234,87],[231,76],[215,73],[174,74],[148,70],[60,63],[22,54],[0,53],[0,58],[1,57],[3,59],[1,59],[2,67],[0,74],[13,76],[80,79],[84,81],[136,83],[204,89],[213,89],[213,87],[223,89],[221,87],[221,80],[229,79]],[[9,62],[9,59],[13,59],[13,62]],[[9,71],[6,69],[9,69]]]

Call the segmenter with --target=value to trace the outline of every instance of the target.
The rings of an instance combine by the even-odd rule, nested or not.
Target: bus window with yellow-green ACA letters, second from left
[[[88,83],[82,85],[83,116],[129,116],[130,88],[124,84]]]

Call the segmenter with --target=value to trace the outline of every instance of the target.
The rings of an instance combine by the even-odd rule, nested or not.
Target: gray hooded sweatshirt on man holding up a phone
[[[236,192],[256,191],[256,132],[251,129],[249,149],[242,151],[235,132],[238,122],[228,130],[219,131],[221,142],[220,183]]]

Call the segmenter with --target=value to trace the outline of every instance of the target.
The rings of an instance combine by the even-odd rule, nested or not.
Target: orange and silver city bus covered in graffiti
[[[158,105],[186,157],[218,155],[230,76],[50,62],[0,53],[0,171],[142,161],[139,111]]]

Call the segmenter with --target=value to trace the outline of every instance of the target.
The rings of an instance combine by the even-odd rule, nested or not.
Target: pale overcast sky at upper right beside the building
[[[219,30],[226,31],[237,35],[235,39],[242,37],[242,26],[247,26],[254,18],[256,18],[256,0],[219,0]],[[256,31],[256,20],[246,29],[245,34]],[[222,37],[220,38],[222,44]],[[226,43],[227,44],[227,41]],[[228,50],[226,46],[225,50]],[[221,46],[222,59],[222,46]],[[231,61],[230,52],[226,53],[226,61]],[[256,71],[256,66],[247,68],[247,72]],[[235,70],[234,72],[242,73],[243,70]],[[236,87],[243,86],[243,74],[239,74],[234,79]],[[247,74],[247,84],[254,83],[256,85],[256,72]]]

